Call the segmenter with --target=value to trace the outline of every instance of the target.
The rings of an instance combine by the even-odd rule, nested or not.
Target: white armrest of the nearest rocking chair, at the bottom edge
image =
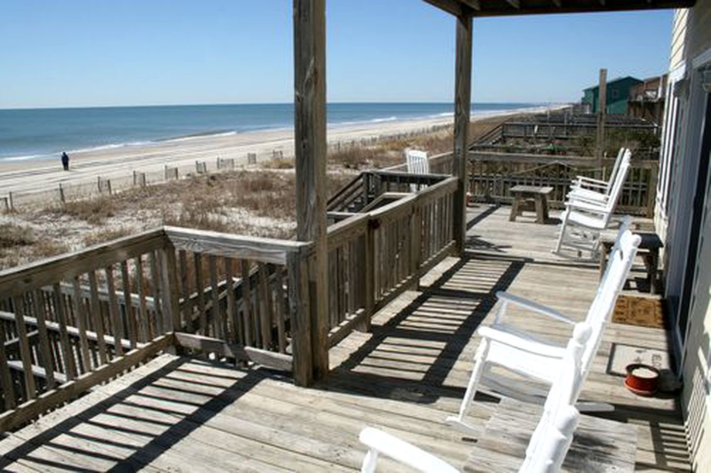
[[[366,427],[360,431],[358,439],[370,449],[370,453],[382,453],[420,472],[456,473],[459,471],[444,460],[440,460],[431,453],[425,452],[421,448],[395,437],[395,435],[383,432],[383,430]],[[366,456],[366,463],[368,460],[368,456]],[[371,472],[374,467],[374,461],[370,465],[363,464],[361,471]]]

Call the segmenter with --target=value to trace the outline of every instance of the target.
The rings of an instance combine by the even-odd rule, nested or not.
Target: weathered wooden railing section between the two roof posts
[[[373,313],[417,286],[419,277],[454,249],[456,178],[385,172],[379,191],[421,190],[328,227],[331,346]],[[377,198],[373,202],[377,202]]]

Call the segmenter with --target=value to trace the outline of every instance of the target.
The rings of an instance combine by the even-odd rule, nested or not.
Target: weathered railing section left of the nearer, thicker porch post
[[[310,247],[165,227],[1,271],[0,430],[164,349],[292,371]]]

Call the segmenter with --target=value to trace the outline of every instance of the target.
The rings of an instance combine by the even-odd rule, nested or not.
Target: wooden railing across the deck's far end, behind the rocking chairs
[[[549,200],[561,207],[577,175],[608,179],[614,159],[604,159],[602,168],[594,158],[579,156],[540,156],[533,154],[469,152],[469,193],[478,200],[510,202],[510,188],[519,185],[553,187]],[[624,183],[617,212],[645,215],[654,212],[658,162],[636,160]]]

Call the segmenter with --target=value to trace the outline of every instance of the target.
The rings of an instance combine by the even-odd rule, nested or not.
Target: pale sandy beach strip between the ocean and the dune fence
[[[472,121],[495,115],[508,115],[520,111],[478,114]],[[329,143],[349,143],[353,140],[393,136],[425,131],[435,126],[447,126],[451,116],[406,121],[389,121],[348,126],[329,126]],[[27,159],[23,161],[0,160],[0,197],[9,192],[37,192],[54,190],[60,184],[77,185],[95,183],[103,179],[129,179],[133,171],[162,173],[165,165],[195,168],[196,161],[214,166],[216,159],[234,158],[237,165],[247,163],[247,153],[257,153],[263,161],[281,151],[284,156],[294,154],[292,129],[250,131],[245,133],[196,136],[141,145],[127,145],[70,154],[70,170],[64,171],[60,159]],[[181,175],[183,172],[181,171]]]

